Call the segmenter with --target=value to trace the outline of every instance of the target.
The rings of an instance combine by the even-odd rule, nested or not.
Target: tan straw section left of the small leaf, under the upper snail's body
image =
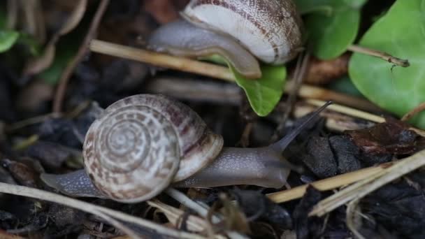
[[[150,52],[140,48],[131,48],[125,45],[118,45],[99,40],[93,40],[90,43],[89,48],[93,52],[99,52],[115,57],[122,57],[125,59],[132,59],[135,61],[142,61],[154,66],[171,68],[189,73],[196,73],[199,75],[206,75],[212,78],[219,78],[232,82],[235,81],[235,78],[233,77],[233,74],[229,68],[217,66],[215,64],[204,63],[193,59],[173,57],[157,52]]]

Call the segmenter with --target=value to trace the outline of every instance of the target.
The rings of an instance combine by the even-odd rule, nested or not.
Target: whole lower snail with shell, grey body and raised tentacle
[[[108,106],[89,127],[85,170],[41,178],[64,194],[124,203],[153,198],[170,184],[280,188],[294,167],[282,151],[329,103],[276,143],[238,148],[223,147],[222,136],[179,101],[156,94],[129,96]]]

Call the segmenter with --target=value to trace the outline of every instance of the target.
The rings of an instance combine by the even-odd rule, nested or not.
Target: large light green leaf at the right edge
[[[370,101],[402,116],[425,101],[425,1],[398,0],[375,22],[359,45],[408,59],[410,66],[393,67],[387,61],[354,54],[349,73],[354,85]],[[425,129],[425,113],[412,120]]]

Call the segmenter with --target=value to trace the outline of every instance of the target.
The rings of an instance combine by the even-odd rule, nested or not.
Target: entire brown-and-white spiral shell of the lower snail
[[[222,145],[222,137],[184,104],[139,94],[113,103],[96,119],[83,156],[99,191],[133,203],[196,173],[215,159]]]

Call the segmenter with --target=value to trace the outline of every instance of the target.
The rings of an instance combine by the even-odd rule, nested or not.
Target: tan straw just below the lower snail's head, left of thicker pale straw
[[[391,164],[393,163],[381,164],[380,166],[370,168],[363,168],[359,171],[337,175],[332,178],[325,178],[323,180],[312,182],[311,184],[304,184],[289,190],[277,191],[271,194],[267,194],[267,196],[275,203],[284,203],[301,198],[305,194],[305,190],[309,185],[312,185],[320,191],[337,189],[338,187],[343,187],[345,185],[352,184],[353,182],[368,178],[370,175],[375,175]]]

